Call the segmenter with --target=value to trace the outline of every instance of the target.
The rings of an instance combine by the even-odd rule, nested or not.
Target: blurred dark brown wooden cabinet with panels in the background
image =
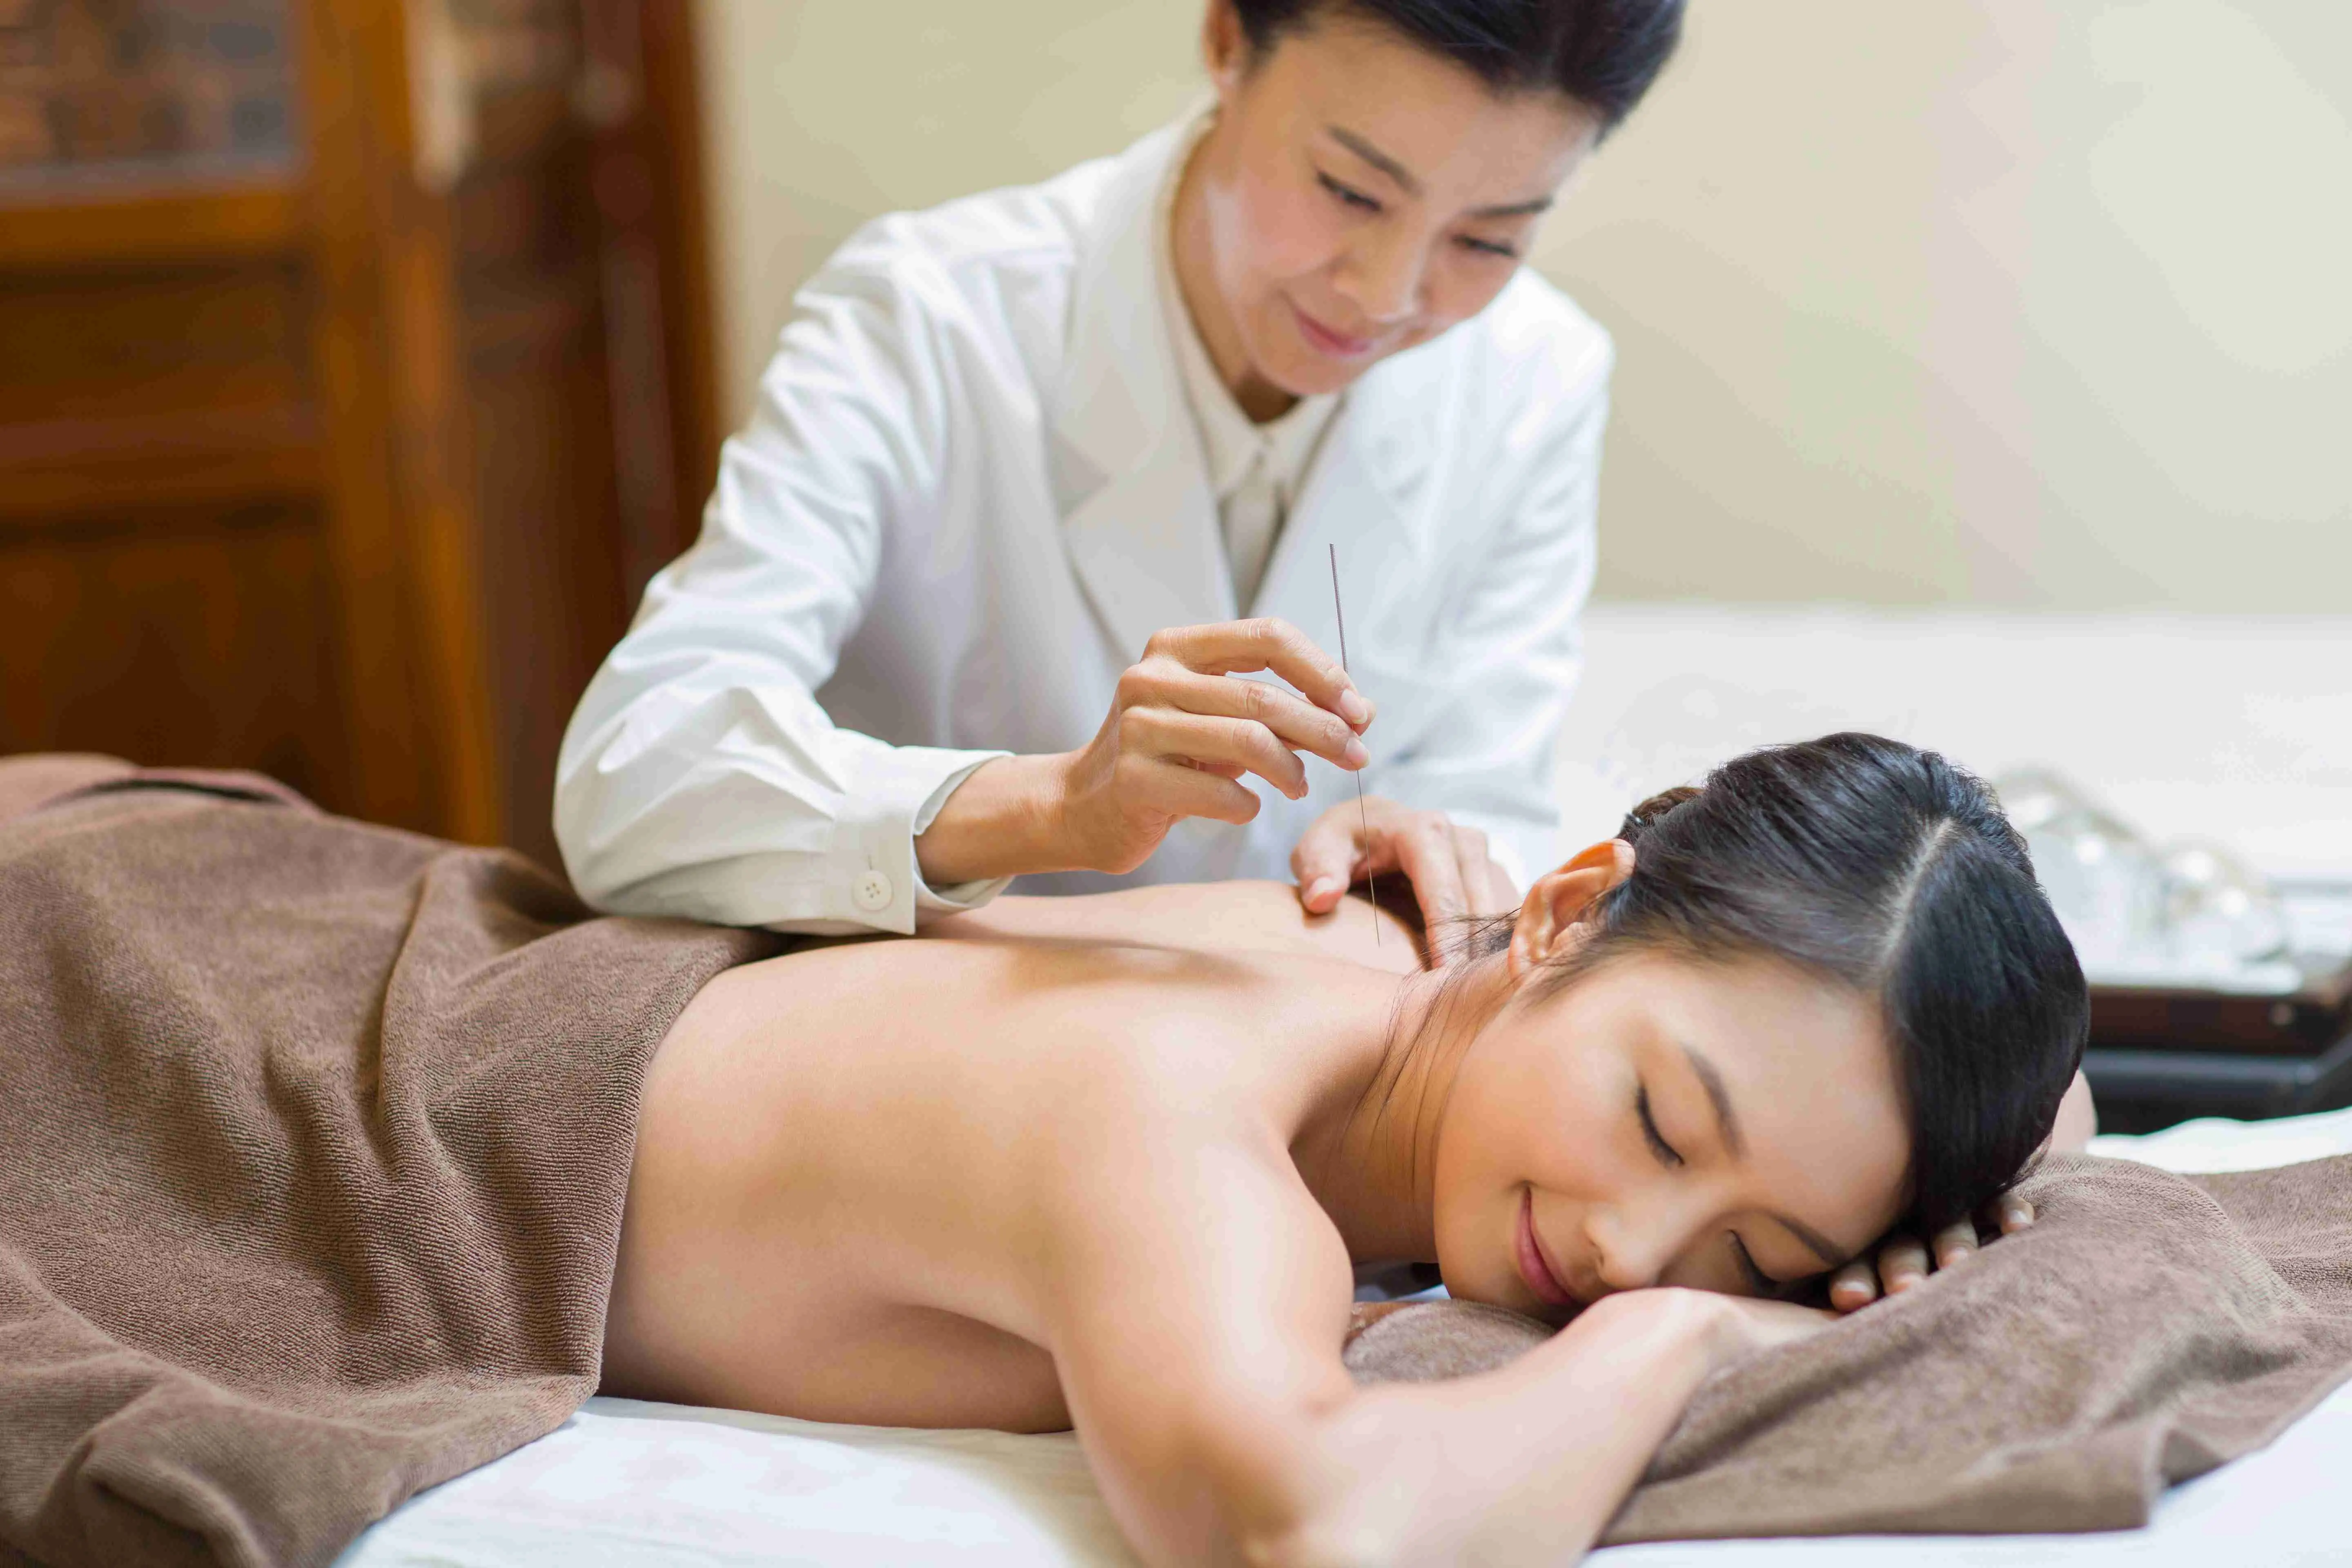
[[[687,0],[0,0],[0,750],[553,860],[717,451]]]

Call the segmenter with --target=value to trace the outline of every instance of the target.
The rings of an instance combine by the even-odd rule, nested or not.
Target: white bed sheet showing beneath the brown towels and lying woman
[[[2352,1152],[2352,1110],[2190,1121],[2100,1138],[2100,1154],[2171,1171],[2244,1171]],[[1599,1568],[2204,1568],[2352,1563],[2343,1479],[2352,1389],[2277,1443],[2173,1488],[2145,1530],[1900,1535],[1616,1547]],[[550,1436],[414,1497],[339,1568],[687,1568],[703,1563],[955,1563],[1124,1568],[1134,1556],[1077,1441],[898,1432],[590,1399]]]

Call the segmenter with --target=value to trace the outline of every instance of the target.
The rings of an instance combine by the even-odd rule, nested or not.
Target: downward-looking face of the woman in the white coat
[[[1181,275],[1254,411],[1268,395],[1336,393],[1477,315],[1597,127],[1566,94],[1496,94],[1345,14],[1256,59],[1211,0],[1207,56],[1218,115],[1178,205],[1178,254],[1197,261]]]

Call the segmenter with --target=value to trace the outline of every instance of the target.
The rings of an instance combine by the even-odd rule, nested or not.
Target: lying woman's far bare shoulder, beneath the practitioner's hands
[[[1308,914],[1287,882],[1181,882],[1080,898],[997,898],[924,936],[962,940],[1124,943],[1190,952],[1263,952],[1421,969],[1418,936],[1362,898]]]

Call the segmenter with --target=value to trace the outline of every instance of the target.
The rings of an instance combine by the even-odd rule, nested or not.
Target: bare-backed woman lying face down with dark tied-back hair
[[[713,980],[644,1086],[607,1392],[1075,1427],[1155,1563],[1559,1563],[1710,1371],[1830,1316],[1776,1298],[2004,1192],[2086,1027],[1992,797],[1867,736],[1646,804],[1442,978],[1298,919],[1000,900]],[[1367,1260],[1566,1331],[1359,1389]]]

